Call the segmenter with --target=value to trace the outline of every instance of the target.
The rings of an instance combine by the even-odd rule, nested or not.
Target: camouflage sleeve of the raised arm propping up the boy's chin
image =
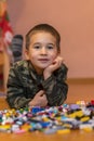
[[[49,105],[61,105],[67,99],[68,85],[65,82],[68,68],[63,65],[51,77],[43,81]]]

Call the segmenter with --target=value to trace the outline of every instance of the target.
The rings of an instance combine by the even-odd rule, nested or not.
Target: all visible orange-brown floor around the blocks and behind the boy
[[[77,101],[91,101],[94,100],[94,79],[69,79],[69,91],[66,103],[76,103]],[[3,90],[2,90],[3,91]],[[3,99],[4,98],[4,99]],[[8,104],[5,102],[5,95],[0,97],[0,110],[6,108]],[[82,131],[75,130],[70,133],[65,134],[43,134],[39,132],[27,132],[27,133],[2,133],[0,132],[0,138],[3,141],[93,141],[94,140],[94,130],[93,131]]]

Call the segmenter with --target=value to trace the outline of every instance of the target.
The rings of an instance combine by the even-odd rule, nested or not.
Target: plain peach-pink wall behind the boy
[[[68,77],[94,77],[94,0],[8,0],[15,34],[49,23],[62,36]]]

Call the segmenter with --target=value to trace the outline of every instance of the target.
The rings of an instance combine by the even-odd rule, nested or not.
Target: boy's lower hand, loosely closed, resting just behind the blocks
[[[40,90],[35,98],[29,102],[29,106],[46,106],[48,100],[43,90]]]

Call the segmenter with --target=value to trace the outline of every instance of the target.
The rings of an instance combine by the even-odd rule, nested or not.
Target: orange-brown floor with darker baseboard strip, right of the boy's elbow
[[[91,101],[94,100],[94,79],[69,79],[69,90],[67,101],[75,103],[77,101]]]

